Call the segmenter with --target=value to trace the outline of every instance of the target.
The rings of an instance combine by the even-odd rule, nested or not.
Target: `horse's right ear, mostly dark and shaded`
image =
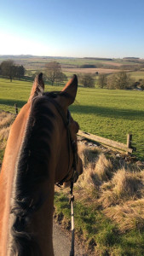
[[[73,75],[72,79],[70,79],[67,82],[66,86],[61,90],[63,92],[66,92],[67,94],[67,97],[65,97],[66,107],[68,107],[75,101],[77,90],[78,90],[78,78],[76,75]]]

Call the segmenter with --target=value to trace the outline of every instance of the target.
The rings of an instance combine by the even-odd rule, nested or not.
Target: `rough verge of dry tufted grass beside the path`
[[[14,114],[0,113],[0,159]],[[79,143],[84,173],[75,184],[78,238],[88,255],[144,255],[144,171]],[[107,156],[106,156],[107,155]],[[55,192],[55,217],[70,229],[69,191]]]

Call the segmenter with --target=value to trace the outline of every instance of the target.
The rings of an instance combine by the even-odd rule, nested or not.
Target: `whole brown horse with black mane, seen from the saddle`
[[[41,73],[14,120],[0,175],[0,256],[54,255],[55,183],[76,180],[83,169],[68,111],[77,89],[74,75],[59,93],[43,93]]]

